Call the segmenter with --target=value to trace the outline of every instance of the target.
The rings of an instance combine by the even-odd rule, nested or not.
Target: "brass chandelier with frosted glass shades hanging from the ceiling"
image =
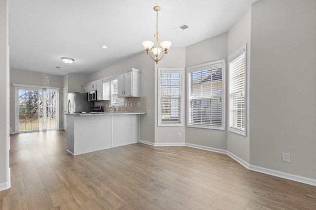
[[[171,46],[170,41],[162,41],[159,46],[159,34],[158,34],[158,11],[160,11],[160,6],[154,6],[154,10],[157,12],[157,20],[156,20],[156,45],[152,41],[143,41],[143,46],[146,49],[146,53],[158,64],[158,61],[161,60],[165,54],[167,54],[167,50]],[[161,57],[158,58],[159,54],[162,53]]]

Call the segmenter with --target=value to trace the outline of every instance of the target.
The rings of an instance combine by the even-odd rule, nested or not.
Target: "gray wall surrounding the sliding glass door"
[[[46,75],[32,71],[10,69],[10,127],[15,132],[15,87],[12,84],[45,86],[60,88],[59,90],[59,127],[62,127],[62,92],[63,77]]]

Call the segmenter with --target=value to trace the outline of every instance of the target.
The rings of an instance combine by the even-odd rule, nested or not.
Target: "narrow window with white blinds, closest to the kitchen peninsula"
[[[182,126],[183,68],[158,68],[158,126]]]

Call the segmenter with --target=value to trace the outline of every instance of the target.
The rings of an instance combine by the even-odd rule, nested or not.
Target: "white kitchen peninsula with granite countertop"
[[[67,151],[77,155],[139,142],[141,114],[67,114]]]

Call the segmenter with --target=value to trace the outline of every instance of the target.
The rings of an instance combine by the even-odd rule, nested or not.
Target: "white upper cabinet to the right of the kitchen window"
[[[140,96],[140,72],[141,70],[131,68],[118,75],[118,97]]]

